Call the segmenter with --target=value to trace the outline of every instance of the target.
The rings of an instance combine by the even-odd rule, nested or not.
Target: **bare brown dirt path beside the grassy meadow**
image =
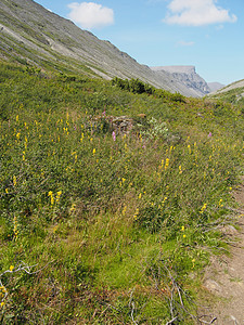
[[[236,216],[240,231],[231,225],[224,227],[233,243],[231,255],[213,257],[204,278],[205,288],[217,301],[207,312],[214,325],[244,325],[244,184],[233,195],[240,204]]]

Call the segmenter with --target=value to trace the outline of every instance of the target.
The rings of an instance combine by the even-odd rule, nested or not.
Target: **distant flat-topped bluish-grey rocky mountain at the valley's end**
[[[152,70],[171,74],[178,82],[191,89],[198,96],[203,96],[210,92],[207,82],[196,74],[194,66],[156,66],[152,67]]]

